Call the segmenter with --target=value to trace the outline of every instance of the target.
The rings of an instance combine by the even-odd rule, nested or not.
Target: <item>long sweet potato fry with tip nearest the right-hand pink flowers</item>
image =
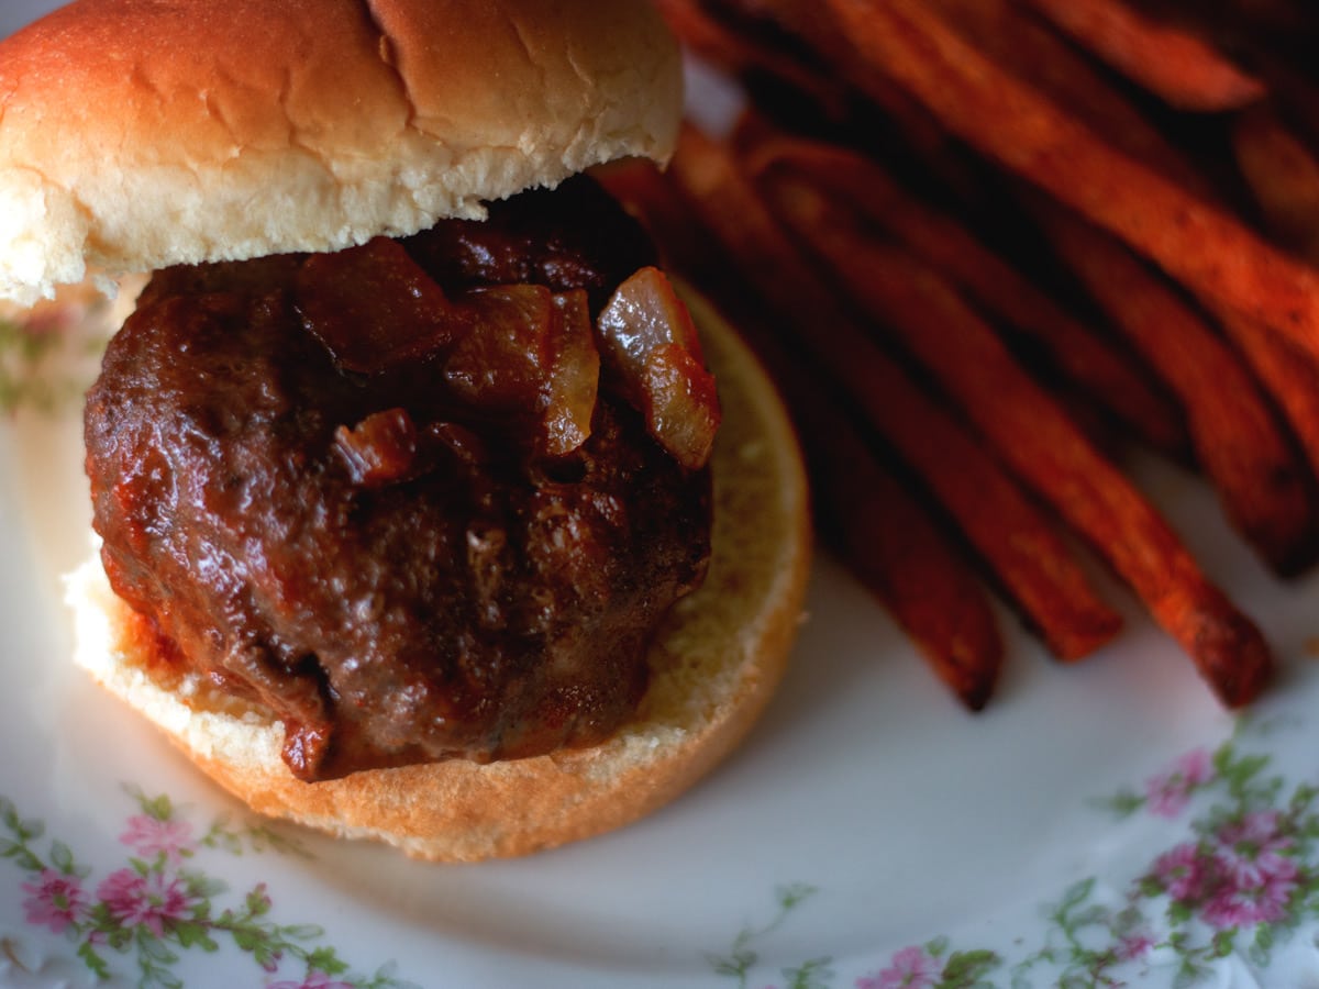
[[[809,186],[781,186],[776,203],[849,295],[938,378],[997,455],[1136,591],[1220,700],[1229,707],[1253,700],[1272,669],[1258,629],[1206,579],[1163,517],[1060,414],[975,311],[936,273],[851,229],[847,215]],[[836,332],[830,340],[855,347]]]

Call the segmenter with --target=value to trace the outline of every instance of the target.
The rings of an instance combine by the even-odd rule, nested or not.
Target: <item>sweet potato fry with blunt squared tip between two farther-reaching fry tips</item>
[[[1093,591],[1050,524],[980,440],[853,326],[728,150],[689,129],[670,174],[731,265],[922,479],[1050,650],[1076,659],[1112,638],[1121,618]]]

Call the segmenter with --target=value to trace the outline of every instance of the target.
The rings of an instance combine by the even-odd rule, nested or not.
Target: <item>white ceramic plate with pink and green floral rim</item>
[[[41,7],[7,0],[0,33]],[[1066,669],[1004,616],[1009,670],[966,715],[822,559],[785,688],[695,791],[539,857],[422,865],[253,820],[71,669],[87,368],[51,332],[54,411],[0,418],[0,984],[1319,985],[1319,585],[1265,576],[1194,480],[1142,472],[1277,647],[1248,717],[1134,608]]]

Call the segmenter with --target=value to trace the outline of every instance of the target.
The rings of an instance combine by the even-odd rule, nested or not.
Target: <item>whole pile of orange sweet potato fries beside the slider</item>
[[[798,417],[820,534],[972,709],[987,587],[1059,661],[1121,620],[1229,707],[1273,661],[1121,468],[1200,469],[1282,578],[1319,558],[1310,0],[661,0],[731,133],[603,175]]]

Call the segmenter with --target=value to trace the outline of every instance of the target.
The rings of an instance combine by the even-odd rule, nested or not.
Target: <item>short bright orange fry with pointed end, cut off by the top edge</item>
[[[1177,109],[1240,109],[1266,92],[1258,79],[1203,38],[1158,24],[1122,0],[1029,3],[1097,58]]]

